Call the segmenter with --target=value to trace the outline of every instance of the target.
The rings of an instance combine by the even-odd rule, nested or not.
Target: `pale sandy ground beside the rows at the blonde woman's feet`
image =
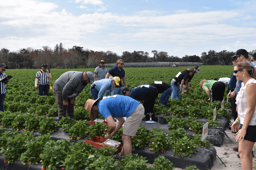
[[[236,134],[232,133],[231,130],[226,129],[225,131],[232,139],[233,143],[225,136],[224,142],[221,147],[215,147],[217,155],[220,157],[222,162],[224,162],[224,165],[221,160],[216,157],[216,160],[214,161],[214,166],[211,168],[211,170],[240,170],[241,169],[241,161],[238,156],[238,152],[235,152],[233,150],[233,147],[238,146],[238,142],[236,142]],[[254,145],[254,149],[256,149],[256,145]],[[256,150],[254,150],[254,155],[256,154]],[[255,164],[256,164],[256,156],[253,158],[253,170],[255,170]],[[181,168],[175,168],[175,170],[182,170]]]

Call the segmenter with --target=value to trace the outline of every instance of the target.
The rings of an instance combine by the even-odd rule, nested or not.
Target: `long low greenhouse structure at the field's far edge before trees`
[[[124,63],[124,67],[181,67],[181,66],[202,66],[204,63],[177,63],[177,62],[147,62],[147,63]],[[116,63],[107,63],[106,67],[114,67]]]

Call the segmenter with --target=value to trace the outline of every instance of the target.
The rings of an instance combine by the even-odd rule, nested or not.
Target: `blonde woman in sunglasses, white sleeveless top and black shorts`
[[[240,61],[234,66],[236,80],[242,80],[242,86],[236,96],[238,117],[231,129],[237,132],[236,141],[239,141],[238,152],[242,170],[252,169],[251,150],[256,142],[256,72],[255,67],[246,61]]]

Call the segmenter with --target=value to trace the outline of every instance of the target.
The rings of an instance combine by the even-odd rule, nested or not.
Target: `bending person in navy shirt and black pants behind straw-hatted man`
[[[154,115],[154,105],[156,102],[156,98],[158,97],[158,90],[154,86],[150,85],[141,85],[136,88],[128,89],[123,88],[122,94],[124,96],[130,96],[135,100],[144,100],[143,106],[145,109],[146,120],[150,120],[150,115],[147,113],[152,114],[152,121],[156,121]]]

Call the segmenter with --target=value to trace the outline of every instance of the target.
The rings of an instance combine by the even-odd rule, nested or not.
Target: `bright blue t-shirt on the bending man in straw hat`
[[[140,102],[122,95],[108,96],[98,102],[98,112],[106,119],[112,117],[129,117]]]

